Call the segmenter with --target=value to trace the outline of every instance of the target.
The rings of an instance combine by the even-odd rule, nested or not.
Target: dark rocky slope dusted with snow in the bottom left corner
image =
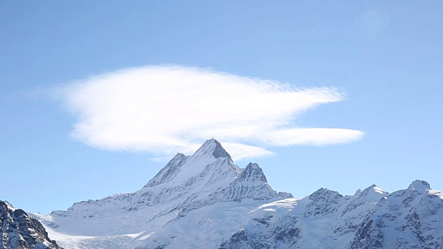
[[[21,209],[0,201],[1,248],[4,249],[58,249],[48,238],[43,225]]]

